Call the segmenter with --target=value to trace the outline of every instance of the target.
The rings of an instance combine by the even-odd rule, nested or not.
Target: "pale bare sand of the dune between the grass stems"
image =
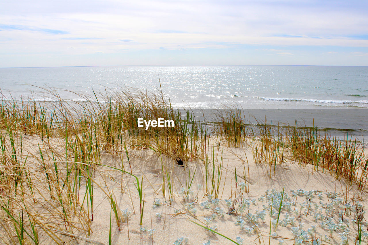
[[[32,142],[33,147],[35,147],[38,141],[33,140]],[[32,146],[29,146],[29,148],[32,148]],[[219,188],[218,191],[212,192],[213,197],[210,199],[208,194],[211,194],[212,178],[208,177],[209,180],[206,186],[205,164],[203,160],[188,161],[185,163],[186,167],[181,167],[175,160],[164,155],[158,155],[151,149],[128,150],[132,174],[136,175],[140,180],[143,177],[145,204],[142,226],[139,225],[139,197],[134,185],[135,178],[128,174],[123,174],[123,178],[121,178],[120,171],[104,166],[97,167],[98,171],[95,171],[95,181],[101,188],[96,186],[94,188],[92,234],[88,237],[95,242],[85,241],[84,238],[61,235],[65,239],[65,244],[109,244],[111,205],[106,192],[113,193],[119,209],[127,209],[130,212],[128,220],[121,220],[120,231],[117,227],[114,213],[111,214],[111,244],[180,244],[181,240],[177,240],[178,238],[184,238],[182,244],[186,244],[186,241],[187,244],[205,244],[208,241],[210,241],[210,244],[234,244],[219,234],[215,234],[192,222],[206,226],[205,218],[208,219],[212,216],[213,219],[208,227],[217,226],[217,232],[234,241],[236,241],[237,237],[240,237],[240,239],[243,239],[243,244],[294,244],[297,242],[297,238],[292,233],[292,228],[300,227],[300,224],[303,225],[299,230],[304,230],[306,233],[308,229],[316,225],[315,230],[311,232],[309,237],[307,236],[303,244],[312,244],[313,240],[314,244],[342,244],[339,233],[344,232],[347,228],[349,229],[349,235],[348,243],[346,244],[354,244],[358,227],[357,224],[351,222],[351,219],[354,219],[354,210],[344,212],[343,225],[341,227],[344,226],[345,228],[336,228],[332,234],[330,234],[327,228],[322,228],[321,223],[328,222],[328,219],[336,224],[339,223],[341,221],[339,212],[343,210],[343,203],[344,205],[346,203],[353,205],[356,203],[355,200],[361,200],[360,203],[363,206],[367,206],[366,191],[358,191],[354,184],[347,185],[346,181],[343,179],[337,180],[326,171],[324,173],[321,170],[315,171],[310,165],[302,166],[288,158],[282,164],[276,165],[275,172],[273,172],[272,166],[270,176],[270,167],[267,164],[255,164],[251,149],[247,143],[240,148],[220,146],[218,149],[215,148],[214,152],[212,150],[209,149],[208,155],[214,157],[215,174],[218,173],[217,171],[220,168],[221,177],[217,182],[218,178],[216,176],[216,190],[217,183]],[[38,154],[37,148],[34,150],[34,154]],[[101,164],[119,168],[121,167],[121,160],[120,157],[102,153]],[[123,164],[125,170],[130,171],[126,157],[123,159]],[[171,202],[167,179],[163,184],[162,164],[166,166],[167,171],[173,176],[171,180],[173,192]],[[212,163],[210,164],[210,169],[212,171]],[[235,177],[235,169],[237,177]],[[191,182],[194,173],[195,175]],[[237,178],[237,182],[235,178]],[[121,188],[122,180],[123,189]],[[243,190],[241,190],[241,182],[247,184]],[[192,192],[185,199],[186,195],[181,193],[181,189],[184,188],[186,191],[188,184],[191,184],[190,189]],[[272,191],[272,189],[274,190]],[[301,193],[304,191],[305,195],[296,195],[295,193],[295,195],[292,195],[291,190],[295,191],[298,189]],[[262,195],[265,196],[266,192],[269,194],[276,192],[280,195],[283,190],[285,196],[287,193],[291,210],[290,212],[286,210],[281,211],[276,231],[275,227],[271,225],[270,232],[270,206],[268,205],[270,200],[262,199]],[[308,196],[308,191],[319,192],[312,192],[313,198],[310,200],[311,196]],[[327,194],[331,192],[337,193],[336,198],[328,198]],[[81,193],[84,193],[83,188],[81,188]],[[318,197],[318,193],[321,197]],[[215,200],[216,197],[219,200]],[[80,198],[83,198],[83,196]],[[237,212],[231,214],[225,199],[230,199],[233,202],[236,198],[245,200],[243,201],[245,208],[242,213],[240,210],[237,210]],[[337,201],[336,204],[336,200],[339,200],[339,198],[341,203]],[[255,200],[252,201],[252,199]],[[209,202],[206,202],[206,200]],[[333,206],[332,211],[325,212],[327,203],[333,203],[334,200],[335,206]],[[271,201],[273,202],[273,200]],[[157,205],[154,205],[154,202]],[[283,203],[286,202],[288,201],[283,197]],[[305,207],[300,211],[300,204],[303,202]],[[320,202],[323,203],[323,206]],[[206,203],[209,204],[207,205],[208,208],[205,207],[206,205],[203,205]],[[249,204],[247,205],[247,203]],[[317,210],[314,203],[319,205]],[[237,207],[238,205],[239,202],[236,202],[234,206]],[[262,205],[266,209],[264,219],[259,218],[257,222],[252,223],[250,216],[261,212],[264,209]],[[194,208],[197,212],[193,211]],[[319,208],[321,209],[318,210]],[[220,217],[216,214],[216,211],[221,213],[221,209],[223,209],[223,215]],[[273,207],[273,210],[275,209]],[[295,209],[299,210],[299,213],[296,213]],[[247,213],[251,213],[250,216]],[[289,220],[294,217],[294,222],[285,226],[282,220],[287,213],[289,213]],[[313,217],[315,213],[321,213],[321,217],[317,219],[317,222],[315,222]],[[276,220],[277,216],[273,216],[273,219]],[[244,220],[244,222],[241,220]],[[365,222],[365,219],[363,219],[363,222]],[[240,228],[240,223],[244,223],[243,229]],[[254,228],[255,225],[257,228]],[[153,235],[150,234],[151,229],[154,230]],[[362,229],[367,231],[365,223]],[[274,237],[269,239],[269,234],[274,232],[277,235],[274,234]],[[75,234],[78,233],[75,232]],[[80,232],[78,235],[86,237],[83,232]],[[40,238],[42,244],[53,243],[50,239],[43,238]],[[364,243],[366,241],[367,239]]]

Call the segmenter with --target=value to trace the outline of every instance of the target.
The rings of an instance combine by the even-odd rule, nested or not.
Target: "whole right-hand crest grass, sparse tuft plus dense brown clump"
[[[276,166],[291,158],[303,166],[311,164],[314,170],[329,171],[337,179],[344,178],[367,186],[368,156],[364,145],[353,136],[332,137],[316,127],[288,124],[259,123],[248,125],[252,138],[250,147],[255,163],[269,165],[269,174],[275,175]]]

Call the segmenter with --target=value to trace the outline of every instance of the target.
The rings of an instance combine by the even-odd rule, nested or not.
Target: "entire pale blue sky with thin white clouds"
[[[368,65],[368,1],[0,0],[0,67]]]

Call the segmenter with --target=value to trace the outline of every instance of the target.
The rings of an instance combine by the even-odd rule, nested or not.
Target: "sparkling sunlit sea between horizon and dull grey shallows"
[[[177,106],[214,109],[368,108],[368,67],[336,66],[117,66],[0,68],[5,97],[45,99],[45,88],[92,94],[126,87],[160,89]],[[33,85],[33,86],[32,86]],[[10,93],[9,93],[10,92]],[[66,99],[72,92],[60,91]]]

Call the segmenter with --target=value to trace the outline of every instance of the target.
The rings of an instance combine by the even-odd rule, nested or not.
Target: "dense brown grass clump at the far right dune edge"
[[[317,127],[287,127],[287,145],[293,160],[301,164],[311,164],[314,170],[322,168],[333,173],[336,178],[345,178],[350,183],[366,186],[368,157],[364,154],[362,142],[352,136],[344,139],[321,134]]]

